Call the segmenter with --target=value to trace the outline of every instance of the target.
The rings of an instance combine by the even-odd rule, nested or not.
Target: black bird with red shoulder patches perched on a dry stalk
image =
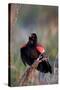
[[[32,65],[34,61],[39,57],[39,55],[42,56],[41,60],[46,57],[44,47],[37,44],[37,35],[35,33],[31,34],[31,36],[29,37],[29,41],[27,42],[27,44],[21,47],[20,51],[24,65]],[[44,60],[39,63],[37,70],[44,73],[52,73],[51,65],[49,64],[48,60]]]

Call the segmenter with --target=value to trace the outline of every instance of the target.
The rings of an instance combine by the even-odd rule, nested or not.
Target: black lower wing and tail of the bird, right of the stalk
[[[46,58],[47,60],[43,60],[44,58]],[[46,53],[42,54],[41,60],[42,62],[38,65],[37,69],[44,73],[47,73],[47,72],[52,73],[52,68],[50,63],[48,62],[48,56]]]

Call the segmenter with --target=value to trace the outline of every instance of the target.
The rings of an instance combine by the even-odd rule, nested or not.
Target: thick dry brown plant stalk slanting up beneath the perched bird
[[[32,72],[35,71],[40,61],[35,60],[35,62],[25,71],[22,75],[21,79],[19,80],[20,86],[28,85],[28,82],[31,80]]]

